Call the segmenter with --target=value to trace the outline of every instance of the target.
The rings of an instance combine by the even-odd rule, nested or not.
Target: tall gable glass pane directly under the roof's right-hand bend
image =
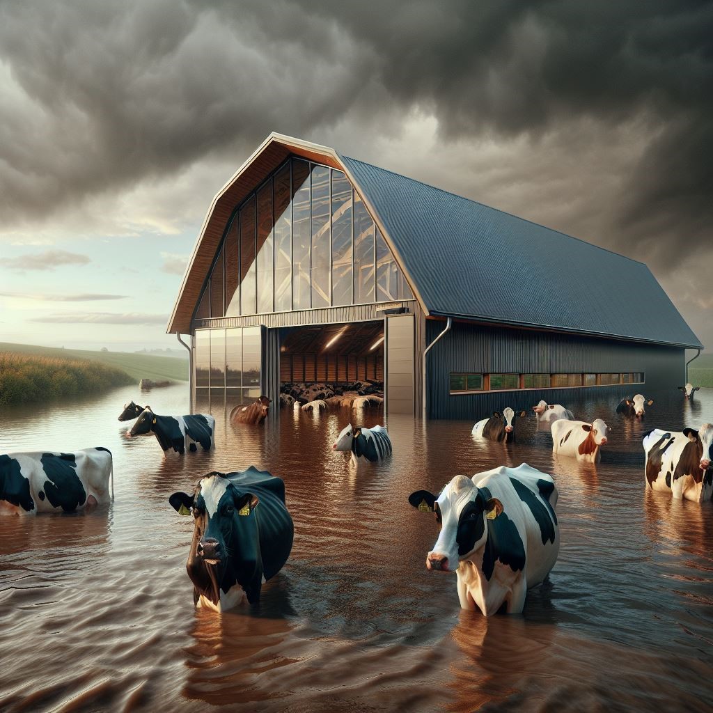
[[[332,172],[332,304],[352,304],[352,184]]]

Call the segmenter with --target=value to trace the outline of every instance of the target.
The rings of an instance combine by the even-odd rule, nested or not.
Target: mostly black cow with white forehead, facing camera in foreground
[[[209,473],[193,495],[168,499],[195,527],[186,569],[193,601],[217,612],[260,601],[262,583],[287,562],[294,526],[284,503],[284,482],[250,466],[240,473]]]

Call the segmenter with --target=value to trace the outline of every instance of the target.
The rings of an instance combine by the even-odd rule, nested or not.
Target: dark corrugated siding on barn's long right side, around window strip
[[[442,321],[426,321],[428,344],[445,325]],[[530,409],[540,399],[550,403],[566,401],[590,389],[621,396],[632,391],[645,393],[647,389],[674,389],[683,383],[684,353],[678,347],[456,322],[426,357],[429,418],[475,419],[505,406]],[[643,371],[646,383],[451,395],[449,375],[458,371],[483,374]]]

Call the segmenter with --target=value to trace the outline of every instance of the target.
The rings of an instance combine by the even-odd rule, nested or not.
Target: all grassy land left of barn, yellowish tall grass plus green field
[[[188,359],[0,342],[0,404],[96,394],[140,379],[188,380]]]

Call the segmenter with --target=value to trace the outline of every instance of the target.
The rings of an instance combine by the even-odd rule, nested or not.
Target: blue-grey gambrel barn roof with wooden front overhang
[[[213,201],[168,332],[190,331],[233,208],[290,154],[344,170],[426,314],[702,347],[642,262],[279,134],[267,137]]]

